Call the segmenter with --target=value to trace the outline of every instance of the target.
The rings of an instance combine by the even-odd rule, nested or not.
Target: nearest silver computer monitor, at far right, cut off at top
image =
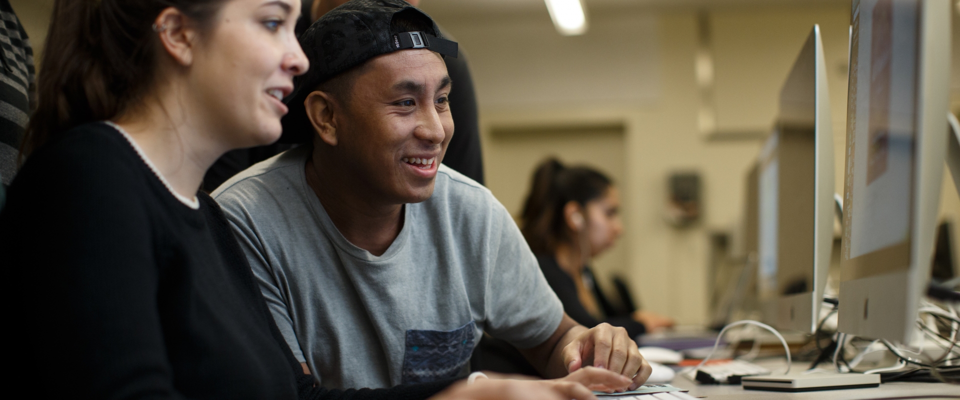
[[[840,332],[909,343],[948,144],[948,0],[852,4]]]

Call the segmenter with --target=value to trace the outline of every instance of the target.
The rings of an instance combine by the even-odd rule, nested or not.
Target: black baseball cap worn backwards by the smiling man
[[[433,32],[393,32],[394,17],[420,19]],[[427,24],[424,24],[427,25]],[[404,49],[428,49],[456,58],[457,43],[444,39],[437,23],[403,0],[350,0],[327,12],[300,35],[310,69],[294,79],[294,92],[284,101],[289,112],[280,121],[281,143],[307,143],[313,126],[303,102],[317,85],[368,59]]]

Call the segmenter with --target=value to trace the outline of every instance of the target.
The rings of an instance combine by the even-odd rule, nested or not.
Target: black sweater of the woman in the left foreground
[[[199,210],[177,200],[101,123],[30,157],[0,214],[16,386],[49,398],[413,399],[449,385],[314,388],[223,212],[198,198]]]

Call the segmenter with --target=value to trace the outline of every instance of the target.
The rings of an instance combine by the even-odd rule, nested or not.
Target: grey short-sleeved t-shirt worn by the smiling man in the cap
[[[507,210],[441,165],[433,196],[404,205],[380,256],[353,246],[306,183],[309,146],[213,192],[276,324],[326,388],[389,388],[468,371],[484,331],[529,348],[564,308]]]

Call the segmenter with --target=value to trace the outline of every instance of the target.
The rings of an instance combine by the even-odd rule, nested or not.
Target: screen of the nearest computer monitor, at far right
[[[842,280],[910,266],[919,6],[854,9]]]

